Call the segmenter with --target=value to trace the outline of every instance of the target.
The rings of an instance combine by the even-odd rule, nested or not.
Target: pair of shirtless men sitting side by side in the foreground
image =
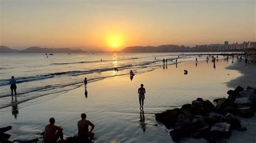
[[[78,127],[78,142],[91,142],[93,139],[93,129],[95,127],[91,121],[86,120],[86,114],[81,114],[81,120],[77,122]],[[55,125],[55,118],[49,119],[50,124],[45,126],[44,130],[44,142],[45,143],[53,143],[57,142],[58,139],[61,141],[64,140],[63,138],[63,127]],[[91,130],[89,131],[89,126],[91,126]]]

